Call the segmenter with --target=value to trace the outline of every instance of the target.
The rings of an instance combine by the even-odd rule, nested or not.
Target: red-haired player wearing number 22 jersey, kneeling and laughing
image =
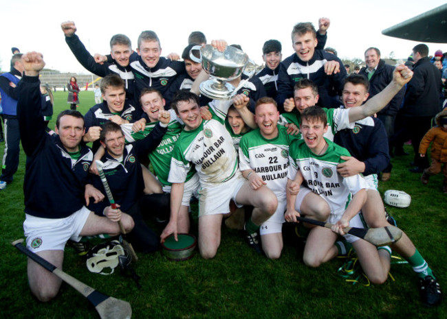
[[[252,189],[267,185],[278,198],[274,215],[263,222],[260,228],[265,255],[270,259],[278,259],[283,250],[282,227],[286,206],[289,145],[296,137],[287,134],[284,126],[278,126],[279,111],[272,97],[262,97],[256,102],[254,119],[258,128],[241,138],[239,167],[242,174],[248,176]]]

